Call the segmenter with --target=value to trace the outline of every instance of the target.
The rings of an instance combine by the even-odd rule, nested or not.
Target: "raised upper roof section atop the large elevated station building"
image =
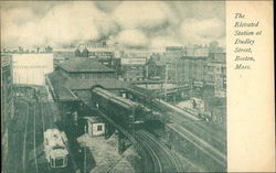
[[[60,67],[67,72],[115,72],[96,60],[84,57],[65,61],[60,65]]]

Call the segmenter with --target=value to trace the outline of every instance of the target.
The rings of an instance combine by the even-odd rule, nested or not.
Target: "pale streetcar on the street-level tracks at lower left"
[[[67,138],[57,129],[44,131],[44,151],[51,167],[66,167],[68,151],[65,142]]]

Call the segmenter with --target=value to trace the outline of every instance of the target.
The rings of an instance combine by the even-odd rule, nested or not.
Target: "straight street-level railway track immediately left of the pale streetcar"
[[[23,173],[50,172],[45,162],[41,162],[43,155],[43,131],[45,129],[45,109],[43,102],[22,100],[26,108],[23,133],[22,167]],[[40,126],[42,125],[42,126]]]

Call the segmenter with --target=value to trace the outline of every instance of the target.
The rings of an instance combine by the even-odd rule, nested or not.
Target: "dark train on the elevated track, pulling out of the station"
[[[140,120],[142,107],[137,102],[119,97],[103,88],[94,88],[92,97],[98,109],[104,110],[105,113],[113,116],[121,123],[134,125],[135,121]]]

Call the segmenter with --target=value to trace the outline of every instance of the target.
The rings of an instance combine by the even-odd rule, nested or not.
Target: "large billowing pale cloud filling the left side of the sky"
[[[28,14],[22,19],[35,19],[35,13],[30,10],[13,9],[3,14],[10,17],[2,28],[3,45],[17,40],[17,44],[30,47],[45,44],[61,46],[78,41],[98,40],[117,31],[116,23],[109,15],[88,1],[54,6],[39,21],[18,22],[21,14]]]

